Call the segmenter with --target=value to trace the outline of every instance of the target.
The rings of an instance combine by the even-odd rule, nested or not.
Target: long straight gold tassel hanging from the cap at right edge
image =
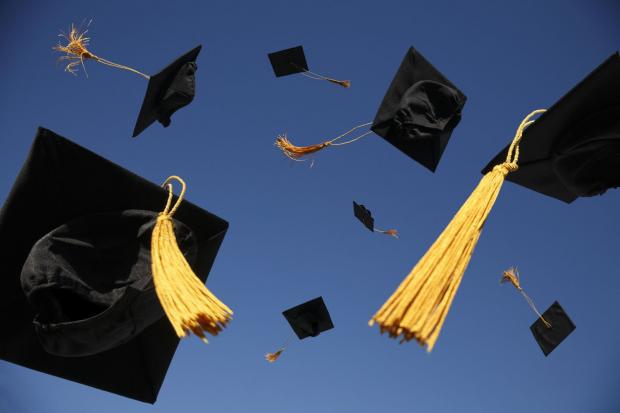
[[[376,322],[381,333],[400,337],[401,343],[415,339],[428,352],[433,350],[504,178],[518,169],[523,131],[542,112],[535,110],[521,122],[506,161],[484,175],[435,243],[372,317],[370,326]]]

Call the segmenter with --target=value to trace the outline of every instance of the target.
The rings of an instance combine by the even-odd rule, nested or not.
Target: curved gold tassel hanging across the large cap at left
[[[181,194],[172,205],[172,180],[181,184]],[[151,258],[155,291],[170,324],[179,338],[193,332],[208,343],[204,332],[216,336],[231,320],[232,310],[217,299],[194,274],[174,234],[172,216],[185,195],[185,182],[178,176],[166,179],[168,202],[157,217],[151,237]]]

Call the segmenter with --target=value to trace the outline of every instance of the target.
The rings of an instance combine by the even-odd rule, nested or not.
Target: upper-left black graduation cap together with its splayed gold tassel
[[[94,60],[148,79],[149,83],[134,127],[133,137],[138,136],[156,120],[164,127],[168,127],[172,114],[189,105],[194,99],[196,58],[202,46],[197,46],[185,53],[159,73],[148,76],[136,69],[111,62],[92,53],[88,50],[90,38],[86,37],[87,31],[87,29],[78,29],[72,25],[69,34],[61,34],[61,37],[65,38],[68,43],[66,45],[59,43],[54,50],[64,53],[60,59],[68,61],[65,71],[72,74],[77,73],[79,66],[84,67],[84,60]]]

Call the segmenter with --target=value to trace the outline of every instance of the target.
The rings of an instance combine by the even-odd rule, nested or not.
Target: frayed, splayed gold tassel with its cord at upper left
[[[90,22],[88,23],[90,25]],[[145,79],[150,79],[148,75],[145,75],[142,72],[137,71],[136,69],[132,69],[129,66],[121,65],[118,63],[110,62],[102,57],[95,55],[94,53],[88,50],[88,44],[90,43],[90,38],[86,37],[86,33],[88,29],[80,31],[78,30],[74,24],[71,24],[71,31],[68,35],[61,33],[59,36],[65,38],[68,43],[63,46],[60,43],[53,47],[53,50],[57,52],[65,53],[64,56],[61,56],[59,60],[68,60],[69,63],[65,66],[65,71],[69,72],[73,75],[76,74],[78,66],[82,66],[84,69],[84,73],[86,73],[86,67],[84,66],[84,59],[92,59],[98,63],[104,64],[106,66],[115,67],[117,69],[128,70],[130,72],[136,73]],[[86,74],[88,77],[88,74]]]

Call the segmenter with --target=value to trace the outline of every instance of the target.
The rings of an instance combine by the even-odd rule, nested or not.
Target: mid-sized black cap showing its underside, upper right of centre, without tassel
[[[467,97],[420,52],[409,48],[371,129],[435,171]]]

